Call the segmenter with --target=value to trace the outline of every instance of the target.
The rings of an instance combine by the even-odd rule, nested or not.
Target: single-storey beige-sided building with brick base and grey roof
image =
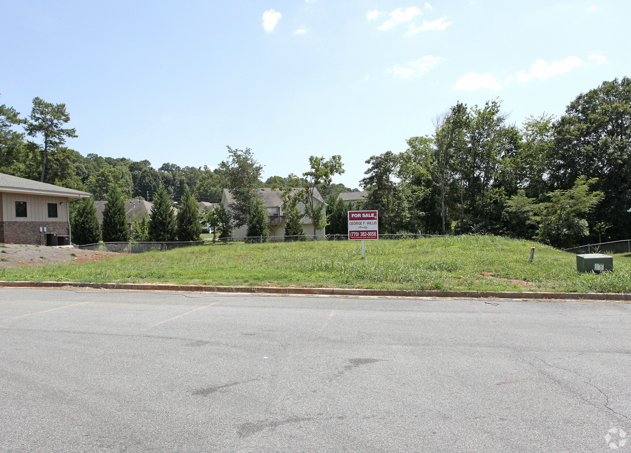
[[[88,192],[0,173],[0,242],[46,245],[46,235],[53,233],[69,239],[68,202],[89,196]]]

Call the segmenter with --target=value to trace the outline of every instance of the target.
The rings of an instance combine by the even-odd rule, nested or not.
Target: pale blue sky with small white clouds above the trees
[[[457,100],[510,121],[562,114],[629,76],[628,1],[5,1],[0,103],[64,102],[81,154],[216,166],[252,148],[264,178],[406,149]]]

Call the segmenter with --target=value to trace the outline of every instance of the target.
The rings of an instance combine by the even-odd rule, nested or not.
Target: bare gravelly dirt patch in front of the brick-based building
[[[98,261],[122,253],[81,250],[74,247],[46,247],[45,245],[3,244],[0,253],[0,269],[21,266],[43,266],[57,262]]]

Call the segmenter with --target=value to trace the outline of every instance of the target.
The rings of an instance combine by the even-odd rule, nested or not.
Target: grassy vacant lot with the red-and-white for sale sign
[[[530,247],[537,247],[529,262]],[[579,274],[575,256],[494,236],[366,242],[215,244],[0,271],[3,280],[170,282],[338,288],[630,292],[631,256],[614,273]]]

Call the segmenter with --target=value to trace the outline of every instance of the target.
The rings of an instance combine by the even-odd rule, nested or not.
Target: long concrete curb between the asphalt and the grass
[[[211,293],[267,293],[316,294],[327,296],[384,296],[384,297],[437,297],[437,298],[498,298],[498,299],[567,299],[567,300],[631,300],[631,294],[619,293],[533,293],[511,291],[409,291],[361,290],[351,288],[276,288],[273,286],[204,286],[158,285],[155,283],[76,283],[74,281],[0,281],[0,287],[19,288],[103,288],[107,290],[140,291],[203,291]]]

